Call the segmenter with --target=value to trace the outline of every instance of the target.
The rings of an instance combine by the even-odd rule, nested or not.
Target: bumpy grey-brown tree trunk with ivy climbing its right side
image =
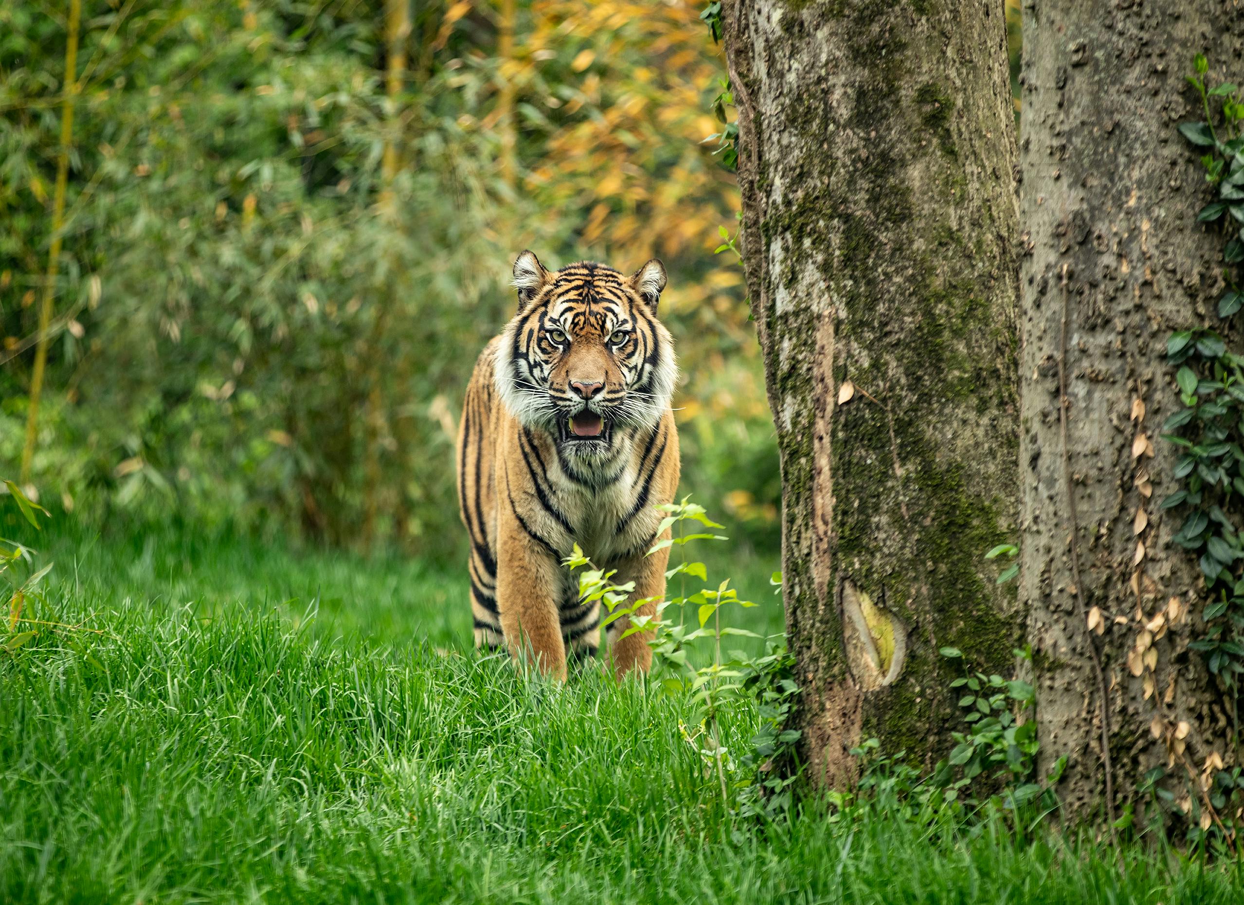
[[[1205,593],[1195,554],[1172,543],[1186,513],[1158,509],[1178,453],[1159,434],[1182,408],[1167,337],[1217,320],[1223,286],[1222,239],[1195,224],[1197,154],[1176,131],[1204,118],[1184,75],[1198,51],[1244,75],[1242,35],[1232,0],[1024,9],[1020,599],[1041,761],[1069,756],[1059,792],[1079,815],[1113,813],[1111,779],[1120,802],[1159,764],[1182,788],[1186,758],[1199,771],[1225,753],[1229,705],[1188,650]]]

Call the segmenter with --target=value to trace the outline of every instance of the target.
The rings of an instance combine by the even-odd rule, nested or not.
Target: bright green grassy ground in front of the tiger
[[[811,803],[731,825],[684,702],[466,652],[458,569],[187,532],[41,538],[0,652],[0,901],[1229,903],[1238,868],[922,832]],[[733,556],[781,617],[771,564]],[[712,566],[710,566],[712,569]],[[724,573],[718,569],[718,575]],[[731,715],[740,744],[754,715]]]

